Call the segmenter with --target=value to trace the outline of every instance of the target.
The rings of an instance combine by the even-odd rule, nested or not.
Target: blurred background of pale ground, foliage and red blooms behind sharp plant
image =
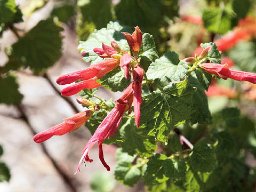
[[[85,126],[42,144],[33,141],[36,133],[83,110],[75,97],[61,97],[55,79],[90,65],[77,50],[79,41],[110,20],[153,35],[159,55],[175,51],[183,59],[198,54],[201,43],[215,42],[223,63],[255,73],[255,10],[250,0],[1,0],[0,191],[145,191],[141,182],[128,188],[114,179],[113,145],[103,145],[110,172],[94,146],[94,161],[73,175],[91,137]],[[106,100],[119,94],[99,89]],[[213,116],[223,107],[239,107],[250,133],[246,163],[255,167],[256,139],[250,135],[256,86],[219,79],[206,94]]]

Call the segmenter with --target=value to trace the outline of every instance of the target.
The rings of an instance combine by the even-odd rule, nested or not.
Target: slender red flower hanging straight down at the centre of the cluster
[[[133,91],[134,91],[134,96],[133,96],[133,106],[134,106],[134,117],[135,117],[135,123],[137,127],[140,126],[140,106],[142,103],[142,91],[141,91],[141,82],[143,80],[143,69],[140,67],[140,65],[137,65],[133,69]]]

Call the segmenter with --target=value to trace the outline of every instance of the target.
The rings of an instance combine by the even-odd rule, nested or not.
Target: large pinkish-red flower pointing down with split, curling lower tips
[[[99,145],[99,158],[103,166],[106,167],[108,171],[110,171],[110,167],[107,165],[107,163],[104,160],[103,157],[103,150],[102,150],[102,142],[113,136],[115,132],[118,129],[118,126],[120,122],[122,121],[123,114],[126,108],[126,103],[119,103],[117,102],[117,105],[109,112],[109,114],[103,119],[97,130],[92,135],[91,139],[87,142],[82,157],[78,163],[77,171],[79,170],[79,167],[81,166],[83,161],[92,162],[93,160],[89,158],[88,153],[91,147],[98,142]],[[77,173],[76,171],[76,173]],[[76,174],[75,173],[75,174]]]

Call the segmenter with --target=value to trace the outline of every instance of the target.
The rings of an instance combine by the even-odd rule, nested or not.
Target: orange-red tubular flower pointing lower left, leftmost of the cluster
[[[92,114],[93,111],[89,109],[67,119],[63,119],[63,123],[55,125],[43,132],[37,133],[34,136],[34,141],[41,143],[47,139],[50,139],[53,137],[53,135],[63,135],[68,132],[73,132],[85,124],[85,122],[92,116]]]

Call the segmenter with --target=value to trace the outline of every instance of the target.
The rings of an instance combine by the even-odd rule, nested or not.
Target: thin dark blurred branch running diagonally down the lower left
[[[36,134],[34,128],[30,125],[28,117],[26,116],[25,110],[23,109],[23,106],[21,104],[17,105],[18,110],[21,113],[21,118],[23,119],[23,121],[25,121],[31,131],[31,133],[33,133],[33,135]],[[57,170],[57,172],[60,174],[61,178],[63,179],[63,181],[69,186],[70,191],[76,192],[76,187],[73,185],[73,183],[71,182],[71,179],[64,170],[61,169],[61,167],[57,164],[57,162],[51,157],[51,155],[48,153],[44,143],[40,143],[42,149],[43,149],[43,153],[50,159],[50,161],[52,162],[52,165],[54,166],[55,170]]]

